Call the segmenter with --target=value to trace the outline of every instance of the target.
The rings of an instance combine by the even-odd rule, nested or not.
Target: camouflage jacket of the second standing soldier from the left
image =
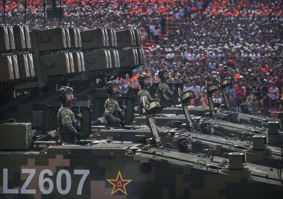
[[[120,122],[120,108],[116,98],[109,96],[104,104],[104,117],[108,121],[107,126],[119,126]]]

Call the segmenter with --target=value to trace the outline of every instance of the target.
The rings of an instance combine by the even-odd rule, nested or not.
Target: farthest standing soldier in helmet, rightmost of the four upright
[[[158,72],[158,76],[161,80],[161,82],[158,85],[158,88],[162,91],[163,93],[163,98],[162,98],[162,102],[165,106],[170,106],[170,96],[171,96],[171,91],[170,88],[167,84],[167,80],[169,78],[167,70],[163,69],[161,71]],[[172,87],[172,89],[175,91],[175,88]]]

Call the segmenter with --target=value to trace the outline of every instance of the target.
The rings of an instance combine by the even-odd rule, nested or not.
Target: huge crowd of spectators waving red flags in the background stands
[[[27,2],[27,24],[44,28],[42,1]],[[23,4],[6,1],[6,23],[23,21]],[[139,28],[144,38],[154,39],[156,44],[144,51],[144,67],[128,78],[133,88],[139,88],[141,73],[156,83],[157,72],[166,68],[172,82],[196,91],[195,105],[205,106],[205,81],[215,83],[219,76],[232,81],[226,88],[231,106],[239,109],[242,102],[258,101],[259,107],[277,111],[283,105],[282,5],[281,0],[62,0],[61,25]],[[166,20],[177,20],[167,25],[174,31],[165,32]],[[58,18],[46,19],[46,28],[58,25]],[[165,39],[158,41],[158,30],[167,34]],[[221,93],[215,93],[214,101],[223,103]]]

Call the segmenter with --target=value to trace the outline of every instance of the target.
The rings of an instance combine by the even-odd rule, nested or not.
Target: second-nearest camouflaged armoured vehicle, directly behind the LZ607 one
[[[230,152],[243,152],[246,151],[247,162],[256,163],[272,168],[278,167],[278,158],[282,155],[280,148],[268,146],[268,134],[260,136],[252,136],[250,141],[243,141],[242,138],[230,138],[228,136],[221,136],[215,132],[216,135],[207,135],[201,131],[194,130],[192,119],[188,108],[184,106],[190,99],[194,98],[195,95],[192,91],[181,92],[180,99],[182,102],[183,111],[186,113],[187,123],[182,124],[181,122],[173,122],[172,127],[157,127],[155,121],[154,125],[150,124],[147,117],[147,121],[150,124],[148,126],[125,126],[124,129],[103,129],[99,132],[93,133],[93,139],[103,140],[108,142],[143,142],[152,136],[152,131],[157,129],[162,143],[167,143],[168,146],[177,147],[177,137],[186,134],[192,136],[192,146],[196,152],[203,153],[205,150],[211,150],[214,148],[214,155],[222,157],[224,153]],[[103,112],[103,110],[102,110]],[[155,120],[155,116],[153,117]],[[152,128],[154,126],[154,128]],[[93,126],[92,128],[97,128]],[[91,137],[90,137],[91,138]],[[268,160],[268,161],[267,161]]]

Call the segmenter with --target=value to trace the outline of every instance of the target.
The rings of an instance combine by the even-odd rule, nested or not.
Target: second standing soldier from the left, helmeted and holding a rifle
[[[109,94],[108,99],[105,101],[104,108],[104,118],[108,121],[107,126],[108,127],[116,127],[121,125],[125,125],[125,121],[120,119],[120,108],[119,104],[116,101],[116,98],[118,97],[119,91],[119,84],[116,81],[108,81],[106,83],[106,91]],[[124,108],[126,110],[126,105],[124,105]]]

